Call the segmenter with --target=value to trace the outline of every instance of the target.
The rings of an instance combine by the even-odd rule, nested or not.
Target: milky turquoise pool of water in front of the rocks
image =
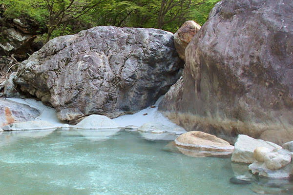
[[[33,136],[38,135],[38,136]],[[292,183],[230,183],[230,158],[191,157],[138,133],[71,131],[0,134],[0,195],[290,194]],[[256,189],[256,190],[255,190]],[[253,190],[253,191],[252,191]]]

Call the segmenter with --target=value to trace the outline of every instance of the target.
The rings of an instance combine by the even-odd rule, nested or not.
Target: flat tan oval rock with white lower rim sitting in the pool
[[[184,154],[196,153],[194,156],[230,155],[234,149],[229,142],[221,138],[196,131],[182,134],[176,138],[175,144]]]

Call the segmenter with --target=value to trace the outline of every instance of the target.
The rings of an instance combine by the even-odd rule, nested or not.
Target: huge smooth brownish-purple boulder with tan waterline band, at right
[[[230,143],[239,134],[293,140],[292,18],[292,0],[217,3],[159,110],[188,131]]]

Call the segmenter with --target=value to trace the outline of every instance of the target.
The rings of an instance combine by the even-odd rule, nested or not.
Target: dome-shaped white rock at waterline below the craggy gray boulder
[[[90,115],[72,127],[76,129],[120,129],[114,120],[102,115]]]

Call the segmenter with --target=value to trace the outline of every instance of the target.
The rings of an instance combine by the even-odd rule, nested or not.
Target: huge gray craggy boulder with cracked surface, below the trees
[[[172,33],[99,26],[49,41],[21,64],[15,83],[62,120],[113,118],[154,104],[182,67]]]

